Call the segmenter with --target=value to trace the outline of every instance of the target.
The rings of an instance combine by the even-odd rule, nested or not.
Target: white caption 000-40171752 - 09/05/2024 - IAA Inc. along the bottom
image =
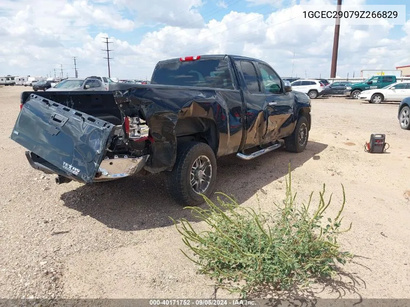
[[[215,299],[169,299],[149,300],[150,306],[256,306],[255,301],[250,300],[215,300]]]

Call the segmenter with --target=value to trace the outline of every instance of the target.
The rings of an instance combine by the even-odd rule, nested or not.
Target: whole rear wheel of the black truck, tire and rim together
[[[199,205],[215,186],[216,158],[212,148],[200,142],[178,145],[174,168],[167,174],[168,193],[184,205]]]

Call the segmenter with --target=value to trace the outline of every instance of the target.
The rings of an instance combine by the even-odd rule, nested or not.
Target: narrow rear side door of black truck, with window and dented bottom
[[[243,149],[267,143],[264,140],[267,125],[266,96],[262,92],[257,67],[248,60],[236,61],[244,81],[246,141]]]

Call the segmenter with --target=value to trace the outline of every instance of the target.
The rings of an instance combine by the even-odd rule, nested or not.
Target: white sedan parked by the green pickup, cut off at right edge
[[[396,82],[383,88],[367,90],[360,93],[359,99],[371,103],[380,103],[382,101],[401,101],[410,96],[410,81]]]

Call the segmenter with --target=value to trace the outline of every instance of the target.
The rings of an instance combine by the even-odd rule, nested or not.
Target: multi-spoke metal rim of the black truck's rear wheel
[[[191,166],[191,188],[197,194],[203,194],[212,178],[212,165],[207,156],[199,156]]]

